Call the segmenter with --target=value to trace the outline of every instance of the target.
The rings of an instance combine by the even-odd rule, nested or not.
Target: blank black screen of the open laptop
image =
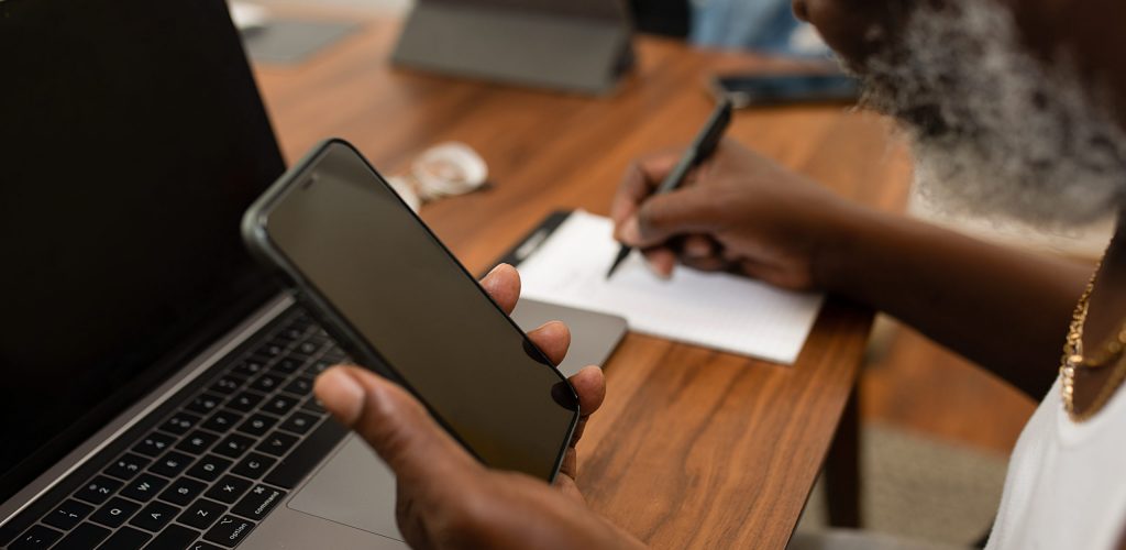
[[[276,292],[284,169],[223,0],[0,1],[0,500]]]

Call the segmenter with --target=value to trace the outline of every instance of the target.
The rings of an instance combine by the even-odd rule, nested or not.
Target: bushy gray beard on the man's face
[[[861,106],[903,123],[922,197],[940,211],[1045,229],[1118,212],[1126,135],[1108,103],[1067,63],[1026,52],[997,2],[931,3],[919,2],[896,45],[855,71]]]

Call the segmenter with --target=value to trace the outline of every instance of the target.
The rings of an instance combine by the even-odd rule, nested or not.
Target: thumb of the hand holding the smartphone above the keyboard
[[[406,390],[370,371],[333,366],[318,376],[314,392],[401,482],[435,481],[457,469],[481,468]]]

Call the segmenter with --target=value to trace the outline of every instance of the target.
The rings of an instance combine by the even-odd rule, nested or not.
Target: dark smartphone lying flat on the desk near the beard
[[[712,78],[716,98],[735,108],[769,105],[856,103],[860,86],[848,74],[727,74]]]

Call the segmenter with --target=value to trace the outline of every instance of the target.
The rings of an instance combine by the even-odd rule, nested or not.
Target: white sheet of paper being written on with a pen
[[[618,314],[631,330],[793,364],[823,296],[726,273],[678,267],[662,281],[638,254],[610,281],[618,243],[610,220],[574,212],[520,264],[522,295]]]

